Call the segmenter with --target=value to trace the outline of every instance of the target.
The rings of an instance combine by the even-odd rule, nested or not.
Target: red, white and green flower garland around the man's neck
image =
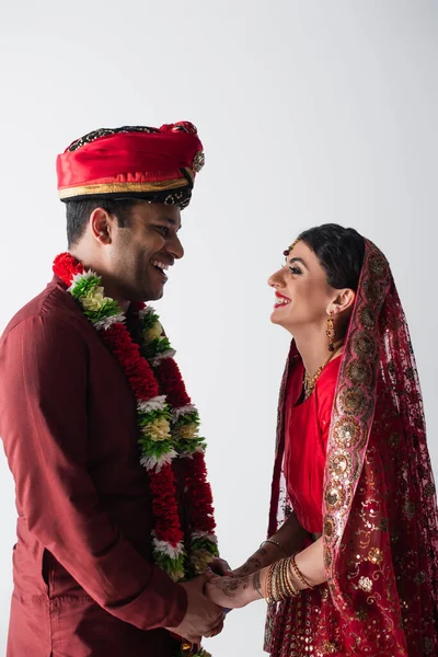
[[[174,581],[204,573],[218,555],[211,489],[204,459],[206,445],[198,434],[199,415],[187,395],[180,369],[155,312],[132,303],[141,341],[136,344],[125,315],[105,297],[101,277],[69,253],[58,255],[54,273],[69,286],[85,316],[122,365],[137,401],[140,463],[149,474],[154,528],[153,558]],[[189,545],[184,545],[172,461],[184,463],[185,495],[191,521]],[[186,654],[186,653],[184,653]],[[193,657],[206,657],[203,649]]]

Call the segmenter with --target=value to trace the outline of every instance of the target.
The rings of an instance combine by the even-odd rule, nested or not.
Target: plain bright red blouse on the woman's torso
[[[301,404],[304,366],[297,365],[289,381],[285,413],[284,474],[287,492],[301,527],[322,532],[322,491],[330,420],[341,358],[321,372],[315,389]]]

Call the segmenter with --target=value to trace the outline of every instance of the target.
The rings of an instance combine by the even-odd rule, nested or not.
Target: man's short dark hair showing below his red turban
[[[96,208],[103,208],[117,217],[118,226],[124,228],[129,220],[130,209],[138,203],[132,198],[88,198],[82,200],[67,200],[67,242],[68,247],[79,242],[85,232],[90,215]]]

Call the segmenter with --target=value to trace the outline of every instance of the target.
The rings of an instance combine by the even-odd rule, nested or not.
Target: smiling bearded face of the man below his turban
[[[163,296],[166,269],[184,255],[180,228],[178,206],[147,201],[130,209],[124,228],[113,223],[105,276],[119,299],[153,301]]]

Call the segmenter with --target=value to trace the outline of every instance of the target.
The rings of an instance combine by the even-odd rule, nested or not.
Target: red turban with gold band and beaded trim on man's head
[[[139,198],[184,208],[204,161],[197,130],[188,122],[101,128],[58,155],[58,194],[64,201]]]

